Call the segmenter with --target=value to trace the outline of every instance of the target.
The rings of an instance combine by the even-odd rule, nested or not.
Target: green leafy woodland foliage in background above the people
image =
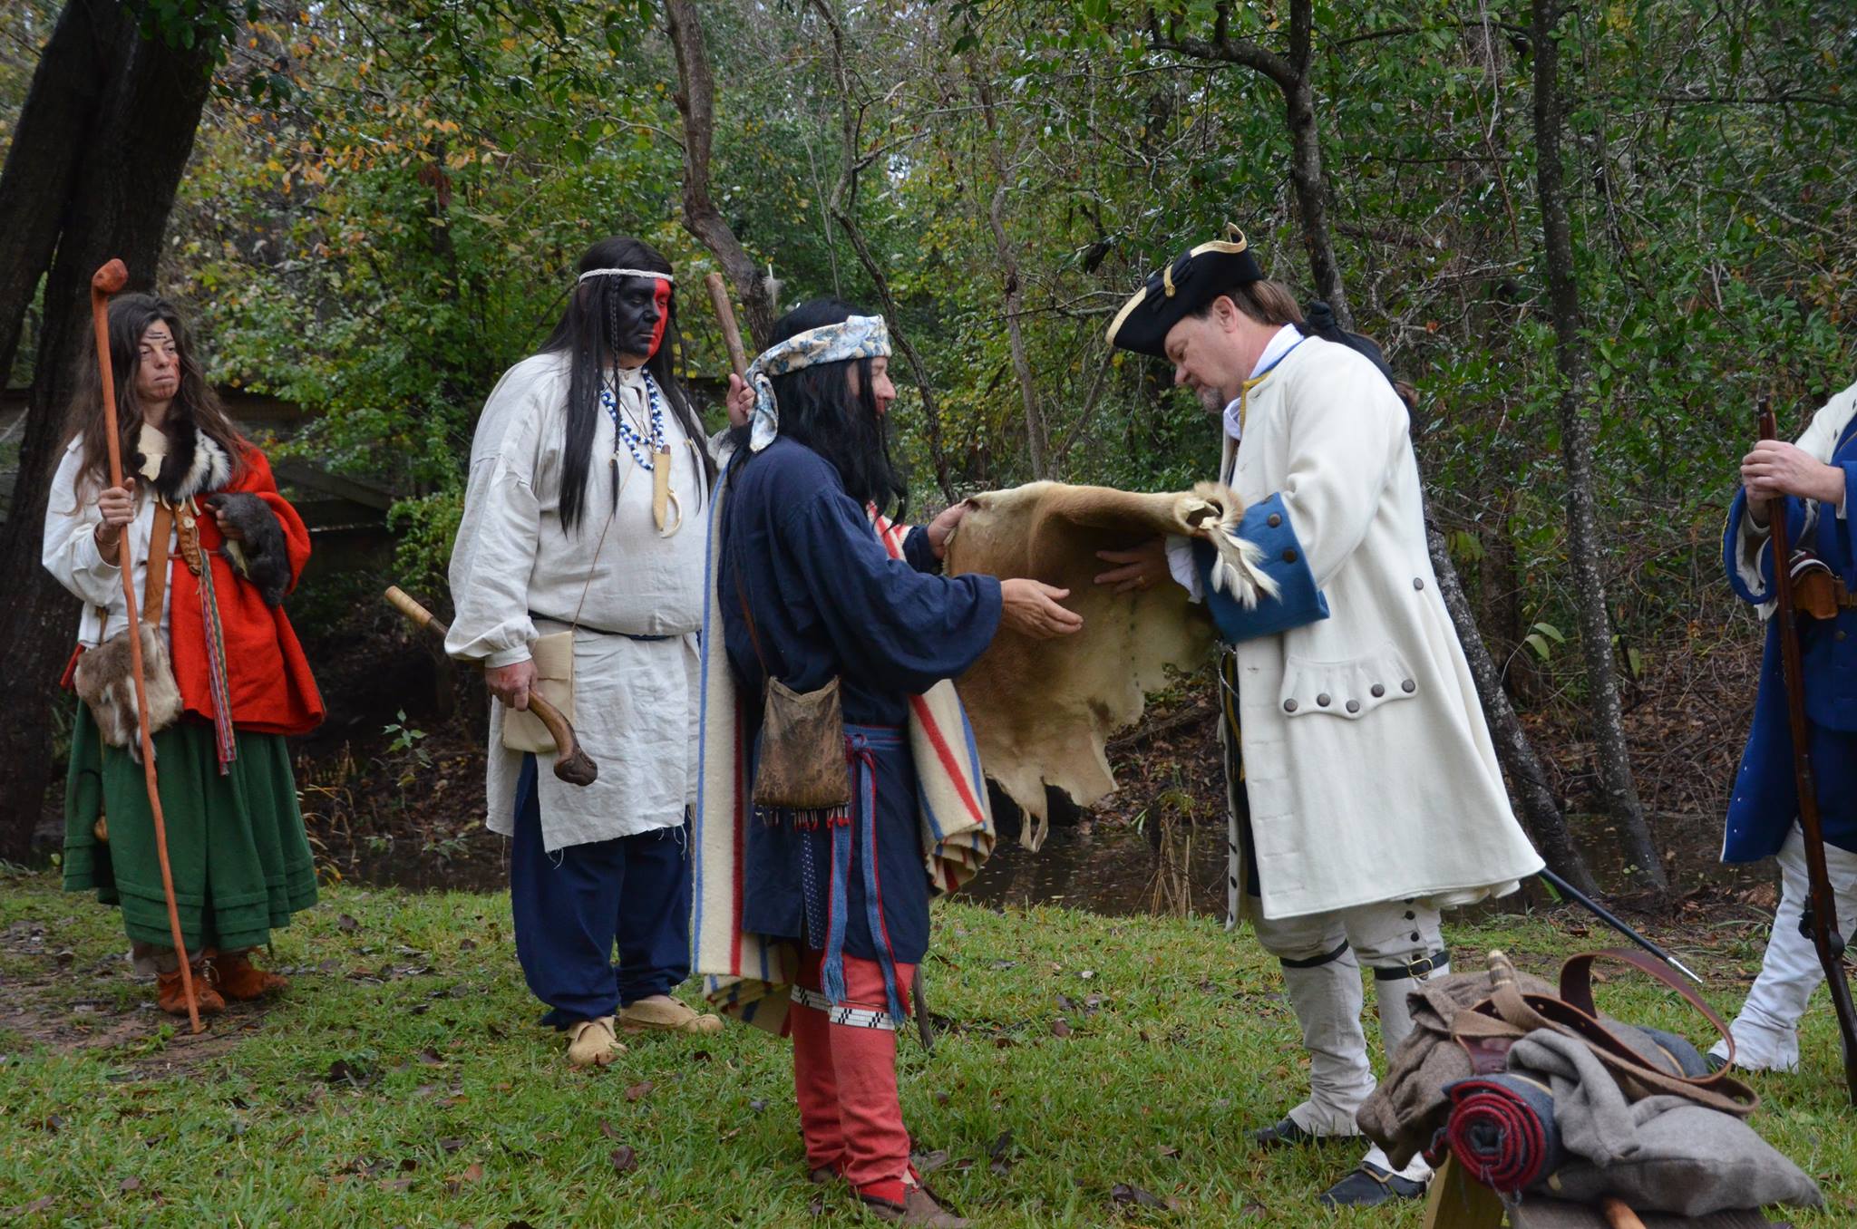
[[[1008,260],[1057,475],[1131,488],[1209,475],[1214,429],[1162,364],[1107,351],[1109,316],[1226,221],[1305,297],[1309,278],[1279,87],[1161,50],[1153,30],[1287,56],[1289,6],[1172,0],[1153,30],[1096,0],[838,7],[854,212],[927,366],[951,485],[1032,477]],[[808,4],[702,11],[713,199],[784,306],[875,304],[830,212],[845,100],[823,22]],[[1569,9],[1556,32],[1591,355],[1577,397],[1632,644],[1681,633],[1699,605],[1725,616],[1710,538],[1755,394],[1803,408],[1851,375],[1857,45],[1840,13],[1837,0],[1617,0]],[[316,408],[292,446],[401,496],[405,576],[442,574],[477,407],[544,336],[587,243],[633,232],[663,249],[683,368],[722,373],[693,293],[713,260],[680,225],[661,22],[643,0],[362,0],[267,6],[228,41],[165,277],[197,303],[215,375]],[[1419,388],[1434,514],[1486,629],[1502,653],[1526,642],[1552,692],[1577,700],[1577,655],[1526,640],[1538,624],[1575,626],[1558,583],[1530,35],[1469,0],[1324,0],[1313,22],[1330,225],[1357,327]],[[921,492],[938,457],[910,390],[895,421]]]

